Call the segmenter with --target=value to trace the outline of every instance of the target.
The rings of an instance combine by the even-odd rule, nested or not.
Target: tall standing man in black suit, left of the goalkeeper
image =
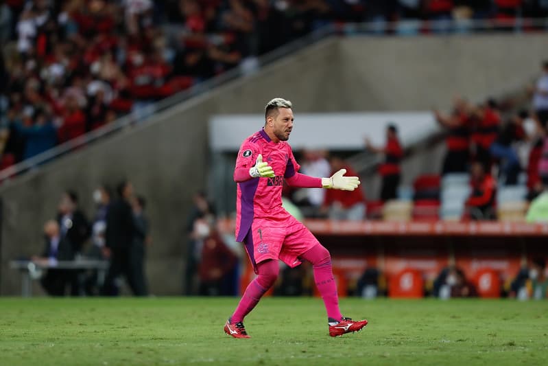
[[[102,289],[103,295],[117,295],[119,277],[126,277],[128,285],[136,296],[145,295],[134,281],[130,253],[136,229],[130,202],[133,198],[133,185],[123,181],[117,186],[118,197],[112,201],[106,214],[105,246],[110,251],[110,267]]]

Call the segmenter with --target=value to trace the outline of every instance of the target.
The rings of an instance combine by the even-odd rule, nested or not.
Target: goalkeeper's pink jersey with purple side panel
[[[274,170],[274,178],[252,178],[238,183],[236,201],[236,240],[246,238],[254,218],[285,220],[291,215],[282,207],[282,188],[285,178],[298,172],[300,165],[285,141],[274,143],[264,130],[248,137],[241,144],[236,169],[250,169],[259,154]]]

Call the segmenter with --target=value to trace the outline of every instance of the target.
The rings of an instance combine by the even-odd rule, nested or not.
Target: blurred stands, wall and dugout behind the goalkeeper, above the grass
[[[294,104],[285,187],[342,296],[543,299],[548,1],[0,1],[0,295],[238,295],[235,157]],[[314,296],[306,264],[271,295]]]

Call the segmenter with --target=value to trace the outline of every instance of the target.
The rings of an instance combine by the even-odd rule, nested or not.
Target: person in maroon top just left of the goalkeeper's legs
[[[237,256],[224,244],[215,227],[213,216],[196,220],[195,226],[197,238],[203,240],[198,266],[200,295],[232,295],[226,279],[230,278],[229,274],[237,264]]]

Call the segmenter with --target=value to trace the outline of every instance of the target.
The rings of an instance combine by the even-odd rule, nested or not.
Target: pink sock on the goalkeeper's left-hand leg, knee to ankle
[[[232,323],[243,321],[243,318],[259,304],[261,297],[263,297],[265,292],[267,292],[267,290],[274,285],[274,282],[276,282],[278,271],[280,271],[280,267],[278,266],[277,260],[267,260],[257,264],[257,272],[259,272],[259,275],[248,284],[248,288],[246,288],[246,292],[243,293],[238,307],[230,320]]]

